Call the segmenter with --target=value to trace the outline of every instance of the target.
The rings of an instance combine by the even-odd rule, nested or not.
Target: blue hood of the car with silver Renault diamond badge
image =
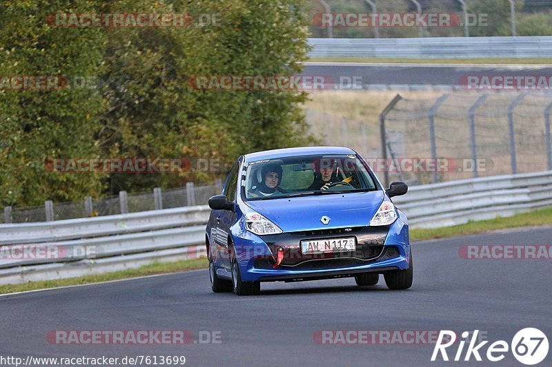
[[[282,231],[295,232],[367,226],[383,200],[383,191],[369,191],[254,200],[246,205],[273,221]],[[322,224],[322,216],[331,218],[330,222]]]

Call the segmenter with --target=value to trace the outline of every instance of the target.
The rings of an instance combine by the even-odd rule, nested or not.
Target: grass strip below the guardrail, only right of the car
[[[453,227],[442,227],[435,229],[412,229],[411,240],[434,240],[437,238],[458,237],[462,235],[473,235],[486,233],[500,229],[518,227],[536,227],[552,225],[552,208],[531,211],[529,213],[516,214],[508,218],[495,218],[481,220],[479,222],[468,222]]]

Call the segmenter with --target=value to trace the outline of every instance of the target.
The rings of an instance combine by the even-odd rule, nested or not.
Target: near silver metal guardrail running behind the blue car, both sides
[[[393,201],[411,227],[442,227],[552,205],[552,171],[411,187]],[[0,225],[0,284],[135,268],[205,255],[207,206]],[[22,244],[51,257],[6,256]],[[92,251],[93,250],[93,251]],[[21,252],[18,252],[21,253]],[[31,252],[32,254],[32,252]]]

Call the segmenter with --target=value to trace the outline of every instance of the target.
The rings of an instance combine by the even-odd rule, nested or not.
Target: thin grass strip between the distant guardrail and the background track
[[[324,57],[310,59],[311,62],[342,62],[342,63],[423,63],[423,64],[552,64],[550,58],[531,58],[531,59],[384,59],[377,57]]]

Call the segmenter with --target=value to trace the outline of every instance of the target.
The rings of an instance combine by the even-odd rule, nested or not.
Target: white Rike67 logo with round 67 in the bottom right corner
[[[468,342],[468,347],[466,348],[464,361],[469,361],[472,356],[476,361],[482,361],[482,355],[491,362],[502,361],[506,357],[506,353],[511,350],[517,361],[527,366],[533,366],[542,362],[546,358],[546,355],[548,355],[548,338],[538,328],[524,328],[518,331],[514,335],[511,344],[508,344],[504,340],[497,340],[488,346],[486,353],[484,353],[483,347],[489,341],[483,341],[476,345],[478,333],[478,330],[473,331],[473,333],[469,333],[468,331],[462,333],[464,340],[460,340],[458,344],[453,357],[454,361],[462,359],[466,342]],[[471,339],[468,340],[470,335]],[[446,348],[453,346],[455,342],[456,333],[454,331],[440,331],[437,344],[435,344],[435,348],[433,349],[433,355],[431,355],[431,361],[436,361],[439,355],[443,361],[449,361]]]

